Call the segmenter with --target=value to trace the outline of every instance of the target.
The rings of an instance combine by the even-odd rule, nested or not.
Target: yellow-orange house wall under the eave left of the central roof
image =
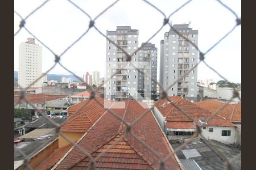
[[[65,137],[71,139],[71,141],[76,142],[78,141],[84,132],[69,132],[69,131],[62,131]],[[59,148],[69,145],[70,143],[66,141],[61,135],[59,135]]]

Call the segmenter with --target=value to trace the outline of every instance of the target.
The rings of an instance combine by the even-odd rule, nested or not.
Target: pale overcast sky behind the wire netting
[[[31,11],[44,1],[14,1],[14,10],[25,18]],[[101,11],[115,1],[109,0],[73,0],[72,2],[86,11],[94,19]],[[158,0],[148,1],[169,16],[187,1]],[[241,1],[222,1],[241,18]],[[115,31],[117,26],[131,26],[139,30],[139,46],[146,42],[163,24],[164,16],[155,8],[140,0],[120,0],[95,21],[95,26],[106,35],[106,31]],[[46,44],[56,54],[60,55],[82,33],[88,29],[90,19],[71,2],[51,0],[26,20],[26,27],[40,41]],[[216,0],[193,0],[171,16],[172,24],[188,24],[199,31],[199,49],[202,52],[214,45],[236,25],[236,17]],[[14,33],[19,29],[20,18],[14,14]],[[164,33],[170,30],[165,25],[163,29],[150,40],[158,48],[158,80],[160,63],[160,40]],[[19,44],[32,37],[24,28],[14,37],[14,70],[18,71]],[[40,44],[37,40],[36,44]],[[43,46],[42,71],[47,71],[55,62],[55,56]],[[91,28],[80,41],[72,46],[60,59],[73,73],[82,76],[89,72],[100,71],[104,77],[106,69],[106,38]],[[230,82],[241,82],[241,25],[205,55],[205,62],[217,70]],[[197,79],[222,78],[210,70],[204,63],[197,69]],[[70,74],[57,65],[49,74]]]

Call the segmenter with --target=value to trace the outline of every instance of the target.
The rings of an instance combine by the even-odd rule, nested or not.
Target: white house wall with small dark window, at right
[[[209,132],[209,128],[213,128],[213,132]],[[221,127],[221,126],[207,126],[206,129],[201,129],[203,137],[206,139],[213,139],[218,142],[222,143],[229,143],[234,144],[236,142],[236,130],[235,127]],[[231,135],[228,136],[222,136],[221,131],[222,130],[230,130]],[[199,137],[201,136],[199,135]]]

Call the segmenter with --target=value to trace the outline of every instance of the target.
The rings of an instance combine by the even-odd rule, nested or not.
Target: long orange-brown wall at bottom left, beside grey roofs
[[[47,147],[43,148],[38,154],[32,156],[30,159],[30,165],[32,168],[36,168],[40,163],[42,163],[49,155],[52,154],[54,150],[58,148],[58,139],[50,143]],[[26,168],[25,168],[26,169]]]

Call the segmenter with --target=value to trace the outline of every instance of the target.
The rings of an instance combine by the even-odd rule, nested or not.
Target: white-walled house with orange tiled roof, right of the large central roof
[[[199,137],[203,136],[206,139],[214,139],[224,143],[235,143],[236,126],[232,122],[220,116],[215,116],[204,123],[213,113],[180,96],[172,96],[169,99],[191,116],[197,124],[200,124],[200,122],[204,124]],[[170,141],[190,138],[196,131],[196,125],[191,118],[185,116],[180,109],[174,107],[167,99],[155,102],[154,114]]]

